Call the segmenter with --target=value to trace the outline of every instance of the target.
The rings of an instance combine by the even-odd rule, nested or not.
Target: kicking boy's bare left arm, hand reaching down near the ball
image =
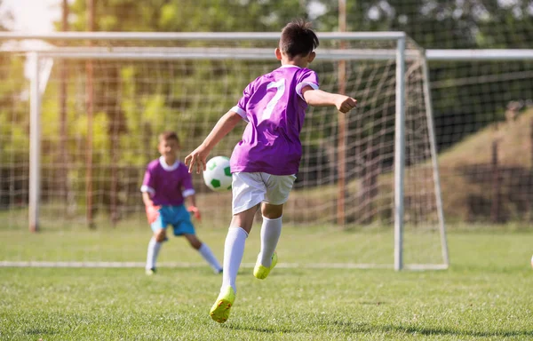
[[[199,174],[201,170],[205,171],[205,163],[207,155],[211,153],[211,149],[224,138],[229,131],[235,128],[237,123],[241,122],[243,117],[235,113],[234,111],[228,111],[225,115],[220,117],[219,122],[215,124],[207,138],[205,138],[200,146],[198,146],[191,154],[185,158],[185,164],[189,168],[189,173],[193,172],[193,168],[196,165],[196,174]]]

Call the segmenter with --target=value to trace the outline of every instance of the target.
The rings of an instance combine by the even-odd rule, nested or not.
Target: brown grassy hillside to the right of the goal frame
[[[530,221],[533,204],[533,110],[493,123],[440,155],[449,221]],[[492,164],[497,143],[497,168]]]

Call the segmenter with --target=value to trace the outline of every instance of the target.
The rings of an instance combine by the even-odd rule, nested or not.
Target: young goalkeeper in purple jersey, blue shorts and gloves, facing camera
[[[159,135],[161,157],[148,163],[140,191],[154,236],[148,243],[147,274],[155,274],[155,260],[166,238],[166,227],[174,227],[174,235],[183,235],[209,263],[215,273],[222,272],[211,249],[196,237],[190,213],[200,218],[196,208],[195,189],[187,166],[178,160],[179,139],[173,131]],[[190,202],[185,208],[185,200]]]

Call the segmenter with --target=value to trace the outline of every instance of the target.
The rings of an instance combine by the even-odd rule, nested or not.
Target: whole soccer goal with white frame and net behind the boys
[[[3,73],[13,79],[12,88],[2,86],[13,96],[0,107],[0,230],[20,234],[12,258],[0,261],[142,266],[149,229],[139,187],[146,164],[158,157],[157,134],[177,131],[187,155],[246,84],[279,66],[279,34],[2,35],[12,42],[30,38],[48,43],[4,44],[1,52]],[[309,108],[301,128],[304,155],[283,216],[296,232],[286,238],[299,245],[298,234],[314,235],[321,245],[338,234],[338,245],[350,244],[319,248],[322,258],[298,266],[448,267],[424,50],[401,32],[319,38],[310,67],[321,89],[349,94],[359,107],[348,115]],[[13,66],[26,69],[28,89],[24,75],[7,70]],[[232,131],[211,156],[231,155],[242,131]],[[194,182],[203,211],[199,231],[209,238],[213,226],[227,227],[231,194],[211,192],[201,176]],[[20,246],[28,226],[55,241],[39,256]],[[96,232],[86,234],[91,229]],[[112,253],[100,246],[106,236],[127,239],[140,229],[147,237],[135,252],[134,242]],[[29,239],[37,242],[38,235]],[[60,251],[63,243],[73,249]]]

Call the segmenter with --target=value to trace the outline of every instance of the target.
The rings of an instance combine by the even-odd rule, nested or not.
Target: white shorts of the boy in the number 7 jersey
[[[233,214],[251,209],[260,202],[281,205],[289,199],[295,175],[268,173],[233,173]]]

